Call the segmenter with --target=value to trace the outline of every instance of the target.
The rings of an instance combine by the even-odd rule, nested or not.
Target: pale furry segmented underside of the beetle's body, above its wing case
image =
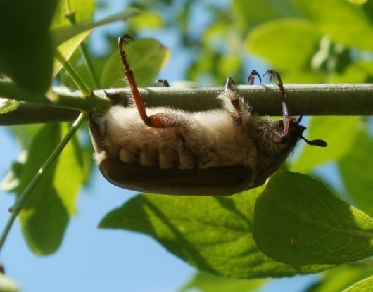
[[[149,108],[148,113],[167,110]],[[106,151],[124,163],[160,169],[229,165],[255,168],[256,144],[250,135],[242,133],[227,111],[178,111],[177,115],[186,121],[184,126],[153,128],[142,122],[136,108],[113,106],[102,118],[106,122],[101,129]]]

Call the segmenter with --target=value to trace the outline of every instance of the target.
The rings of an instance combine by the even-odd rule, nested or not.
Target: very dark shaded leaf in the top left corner
[[[33,94],[51,84],[53,48],[48,29],[57,0],[4,0],[0,9],[0,72]]]

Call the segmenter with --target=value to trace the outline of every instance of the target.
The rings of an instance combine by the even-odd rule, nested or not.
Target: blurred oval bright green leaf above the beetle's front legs
[[[277,70],[295,70],[308,65],[320,37],[307,20],[273,20],[251,30],[246,47]]]

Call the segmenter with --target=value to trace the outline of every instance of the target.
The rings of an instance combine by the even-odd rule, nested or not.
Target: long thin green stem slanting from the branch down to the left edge
[[[88,112],[82,112],[80,113],[79,117],[75,122],[72,124],[72,127],[68,130],[68,132],[65,134],[65,137],[60,141],[60,143],[56,146],[56,148],[53,150],[51,155],[49,155],[49,158],[44,162],[42,167],[39,168],[39,171],[34,175],[32,178],[30,184],[27,185],[26,189],[23,191],[23,193],[20,194],[17,201],[15,201],[15,204],[13,207],[10,208],[11,210],[11,217],[9,217],[8,222],[6,223],[6,226],[4,227],[4,231],[1,234],[0,237],[0,251],[2,247],[4,246],[4,242],[6,240],[6,237],[8,236],[9,231],[11,230],[11,227],[13,225],[13,222],[15,221],[15,218],[18,216],[18,213],[23,207],[23,204],[27,200],[27,198],[30,197],[32,191],[34,190],[34,187],[37,186],[37,183],[39,180],[43,177],[46,170],[49,169],[49,167],[52,165],[52,163],[58,158],[58,155],[61,154],[63,151],[63,148],[68,144],[72,136],[77,132],[77,129],[79,129],[80,125],[88,118],[89,113]]]

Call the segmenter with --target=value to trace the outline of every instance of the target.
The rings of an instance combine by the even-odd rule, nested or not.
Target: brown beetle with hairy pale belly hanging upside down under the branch
[[[301,118],[289,117],[286,93],[279,73],[283,119],[260,118],[233,89],[228,78],[217,96],[222,108],[189,113],[172,108],[145,108],[124,44],[118,39],[125,78],[132,92],[129,106],[115,94],[106,94],[113,106],[103,115],[91,114],[89,130],[94,158],[109,182],[123,189],[173,195],[231,195],[265,183],[279,169],[299,139],[310,145]],[[263,75],[264,76],[264,75]],[[253,70],[249,84],[260,75]]]

